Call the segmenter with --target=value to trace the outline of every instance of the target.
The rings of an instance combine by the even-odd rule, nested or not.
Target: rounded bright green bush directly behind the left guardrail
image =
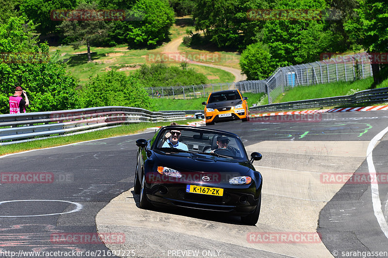
[[[132,106],[154,110],[151,100],[137,76],[109,71],[90,78],[80,91],[81,107]]]

